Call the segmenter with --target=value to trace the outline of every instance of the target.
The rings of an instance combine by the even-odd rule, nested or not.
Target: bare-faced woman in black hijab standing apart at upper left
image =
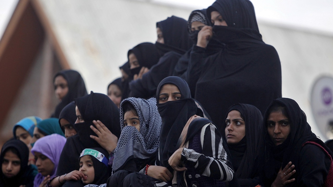
[[[53,79],[54,90],[60,103],[57,105],[52,117],[59,118],[61,110],[75,98],[87,95],[86,85],[79,72],[62,70]]]

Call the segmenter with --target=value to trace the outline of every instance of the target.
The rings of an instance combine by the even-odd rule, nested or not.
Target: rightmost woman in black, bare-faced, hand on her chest
[[[264,186],[327,186],[332,151],[312,131],[305,113],[290,98],[274,99],[263,118]]]

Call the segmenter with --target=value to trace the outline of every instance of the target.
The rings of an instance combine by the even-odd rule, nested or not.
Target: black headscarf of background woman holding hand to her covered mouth
[[[142,67],[150,69],[152,66],[157,64],[157,62],[159,62],[161,57],[156,46],[150,42],[138,44],[134,48],[130,49],[127,53],[127,58],[131,53],[136,56],[140,65],[137,68],[130,69],[131,78],[133,78],[135,74],[139,74]],[[128,59],[128,61],[130,61],[130,59]]]

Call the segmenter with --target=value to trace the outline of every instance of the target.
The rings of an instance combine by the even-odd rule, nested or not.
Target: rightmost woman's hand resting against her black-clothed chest
[[[296,170],[294,170],[295,165],[291,165],[291,164],[292,163],[289,162],[286,165],[286,167],[284,167],[283,169],[282,169],[282,167],[280,168],[271,187],[284,187],[287,184],[295,181],[295,178],[288,180],[293,174],[296,173]]]

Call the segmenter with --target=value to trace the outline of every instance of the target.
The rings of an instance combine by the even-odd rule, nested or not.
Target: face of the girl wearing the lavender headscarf
[[[52,175],[54,171],[54,163],[45,155],[40,152],[35,152],[35,160],[38,172],[44,177]]]

